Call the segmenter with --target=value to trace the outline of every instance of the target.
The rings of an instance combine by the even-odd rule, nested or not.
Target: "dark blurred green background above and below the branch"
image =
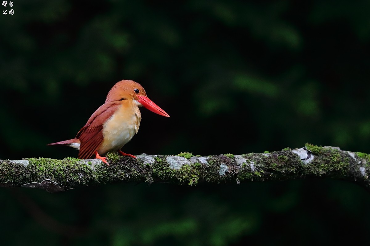
[[[370,152],[370,2],[14,0],[1,5],[0,159],[77,156],[114,83],[142,109],[124,152],[219,155],[305,143]],[[14,14],[4,15],[10,9]],[[342,181],[1,188],[1,245],[360,243],[370,194]]]

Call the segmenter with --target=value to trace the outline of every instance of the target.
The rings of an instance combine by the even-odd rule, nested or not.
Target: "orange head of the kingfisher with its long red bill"
[[[141,84],[132,80],[121,80],[120,82],[117,82],[108,92],[105,102],[122,100],[134,100],[138,107],[144,106],[156,114],[169,117],[162,108],[147,97],[147,93]]]

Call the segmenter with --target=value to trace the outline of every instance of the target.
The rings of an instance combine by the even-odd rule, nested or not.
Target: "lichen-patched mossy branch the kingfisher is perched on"
[[[196,185],[265,180],[334,178],[370,187],[370,157],[337,147],[307,144],[300,149],[243,155],[138,155],[138,159],[108,153],[110,166],[98,159],[30,158],[0,160],[0,186],[35,187],[49,192],[116,182],[165,182]]]

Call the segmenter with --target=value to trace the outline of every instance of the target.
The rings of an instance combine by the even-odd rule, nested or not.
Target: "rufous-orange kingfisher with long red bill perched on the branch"
[[[86,125],[77,133],[76,138],[49,143],[48,145],[66,145],[78,149],[78,158],[89,159],[95,155],[97,159],[107,162],[102,157],[110,150],[121,155],[131,156],[121,148],[137,134],[141,121],[139,107],[144,106],[156,114],[169,117],[157,104],[147,97],[144,88],[132,80],[117,82],[108,92],[105,103],[91,115]]]

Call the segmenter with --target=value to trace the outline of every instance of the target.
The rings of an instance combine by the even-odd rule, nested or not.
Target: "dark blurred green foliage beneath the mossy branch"
[[[369,194],[341,181],[115,184],[58,194],[3,188],[0,195],[16,201],[2,203],[2,245],[357,244],[370,228]]]

